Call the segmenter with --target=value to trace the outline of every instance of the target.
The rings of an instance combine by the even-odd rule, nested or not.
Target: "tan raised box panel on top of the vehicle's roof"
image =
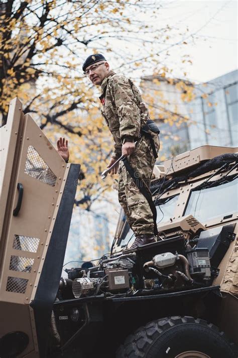
[[[236,152],[238,152],[238,148],[202,146],[165,161],[164,170],[167,175],[172,175],[184,169],[196,167],[198,164],[222,154]]]

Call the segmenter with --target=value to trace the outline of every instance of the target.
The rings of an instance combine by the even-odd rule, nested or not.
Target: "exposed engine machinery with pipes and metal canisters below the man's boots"
[[[198,273],[199,281],[194,279]],[[98,265],[87,270],[68,270],[68,281],[71,281],[74,298],[102,294],[111,297],[146,295],[152,291],[159,293],[206,285],[210,275],[208,250],[202,249],[195,251],[195,255],[191,250],[187,258],[172,252],[157,254],[143,265],[135,252],[102,258]],[[66,285],[61,283],[63,287]]]

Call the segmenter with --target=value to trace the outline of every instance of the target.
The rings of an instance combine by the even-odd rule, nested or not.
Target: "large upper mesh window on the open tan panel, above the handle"
[[[25,173],[45,184],[55,186],[55,174],[32,146],[28,147]]]

